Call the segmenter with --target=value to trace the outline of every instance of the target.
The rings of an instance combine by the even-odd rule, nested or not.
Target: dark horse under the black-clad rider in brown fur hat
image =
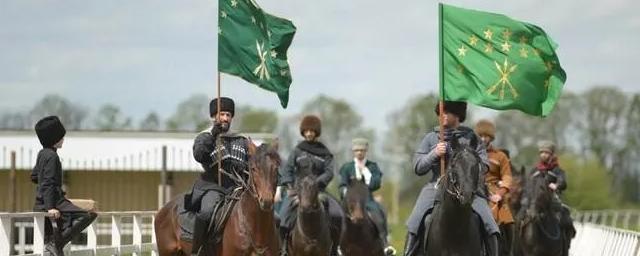
[[[296,222],[291,230],[289,256],[331,255],[333,241],[329,213],[320,201],[320,189],[314,175],[298,178]]]

